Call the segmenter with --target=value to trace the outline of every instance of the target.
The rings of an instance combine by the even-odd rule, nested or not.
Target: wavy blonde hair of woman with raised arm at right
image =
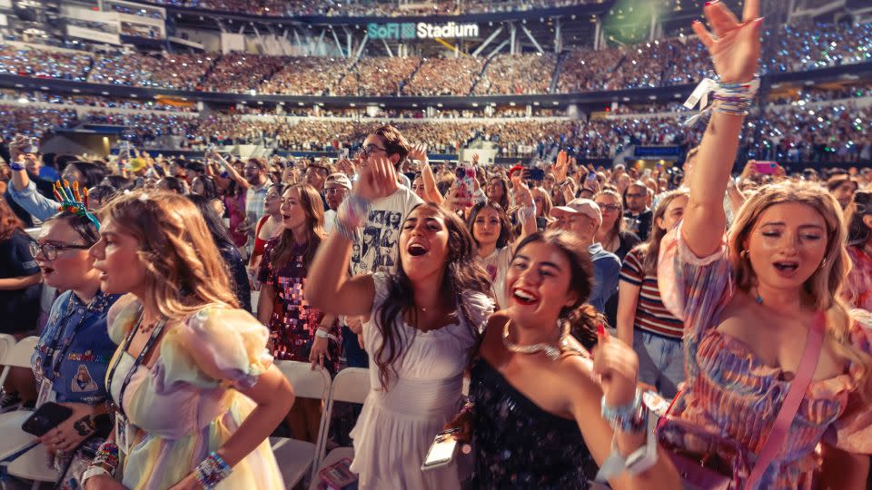
[[[854,347],[848,338],[855,321],[842,299],[842,286],[851,268],[845,240],[847,227],[836,198],[810,182],[781,182],[762,186],[741,207],[729,230],[728,251],[736,286],[748,292],[757,278],[749,260],[742,257],[743,242],[748,239],[760,216],[770,206],[784,203],[805,204],[815,209],[827,228],[827,250],[817,271],[806,280],[804,289],[814,299],[815,309],[827,315],[827,338],[832,340],[837,356],[855,364],[859,372],[858,393],[866,399],[870,393],[867,380],[872,358]]]

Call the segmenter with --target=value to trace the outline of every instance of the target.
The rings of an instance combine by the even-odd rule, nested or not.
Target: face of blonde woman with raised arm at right
[[[808,204],[774,204],[760,214],[744,247],[761,286],[799,289],[827,253],[827,223]]]

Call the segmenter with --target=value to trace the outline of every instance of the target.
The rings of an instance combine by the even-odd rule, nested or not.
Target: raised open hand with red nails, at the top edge
[[[715,0],[707,2],[703,12],[711,32],[699,21],[693,22],[693,32],[708,48],[715,72],[721,83],[744,83],[757,73],[760,59],[759,0],[745,0],[742,21],[729,11],[727,5]]]

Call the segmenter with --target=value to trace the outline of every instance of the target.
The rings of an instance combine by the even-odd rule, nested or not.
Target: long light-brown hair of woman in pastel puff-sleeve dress
[[[239,308],[203,215],[184,196],[130,192],[110,201],[100,218],[112,218],[139,241],[148,287],[143,301],[166,318],[182,319],[210,303]]]

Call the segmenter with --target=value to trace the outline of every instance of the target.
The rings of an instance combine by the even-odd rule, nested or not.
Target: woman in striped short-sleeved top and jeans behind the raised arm
[[[630,250],[618,282],[618,338],[639,356],[639,381],[667,398],[675,397],[684,381],[684,325],[663,306],[657,284],[660,240],[681,220],[687,191],[670,191],[654,211],[648,241]]]

